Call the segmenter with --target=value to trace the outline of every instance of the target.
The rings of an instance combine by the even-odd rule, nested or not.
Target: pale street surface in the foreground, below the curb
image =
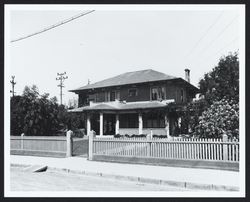
[[[121,181],[57,171],[27,172],[11,168],[11,191],[187,191],[187,189]]]

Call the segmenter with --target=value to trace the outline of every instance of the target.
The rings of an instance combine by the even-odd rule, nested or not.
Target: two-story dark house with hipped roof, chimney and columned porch
[[[147,69],[85,85],[70,90],[79,95],[79,103],[69,111],[86,114],[87,134],[171,135],[178,118],[173,106],[186,105],[198,93],[189,72],[184,80]]]

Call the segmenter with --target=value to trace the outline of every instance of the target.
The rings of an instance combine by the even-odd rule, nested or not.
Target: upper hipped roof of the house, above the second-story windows
[[[71,92],[79,91],[79,90],[86,90],[92,88],[102,88],[108,86],[119,86],[119,85],[126,85],[126,84],[135,84],[135,83],[144,83],[150,81],[161,81],[161,80],[170,80],[176,79],[174,76],[170,76],[152,69],[135,71],[135,72],[127,72],[124,74],[120,74],[118,76],[105,79],[93,84],[89,84],[74,90],[70,90]]]

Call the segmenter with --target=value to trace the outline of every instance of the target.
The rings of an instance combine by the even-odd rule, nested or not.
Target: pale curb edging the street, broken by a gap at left
[[[10,165],[11,167],[22,167],[22,168],[32,166],[29,164],[13,164],[13,163],[11,163]],[[186,188],[186,189],[199,189],[199,190],[209,190],[209,191],[239,191],[239,187],[236,187],[236,186],[201,184],[201,183],[193,183],[193,182],[180,182],[180,181],[173,181],[173,180],[152,179],[152,178],[145,178],[145,177],[123,176],[123,175],[107,174],[107,173],[100,173],[100,172],[91,172],[91,171],[86,171],[86,170],[72,170],[68,168],[56,168],[56,167],[50,167],[50,166],[48,166],[47,169],[51,171],[54,170],[54,171],[72,173],[72,174],[104,177],[104,178],[116,179],[116,180],[176,186],[176,187],[181,187],[181,188]]]

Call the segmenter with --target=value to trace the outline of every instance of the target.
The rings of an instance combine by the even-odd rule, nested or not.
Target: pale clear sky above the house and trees
[[[10,9],[8,39],[92,10],[84,6],[48,8]],[[46,92],[59,100],[56,77],[63,72],[68,76],[64,104],[77,97],[68,91],[86,85],[88,79],[94,83],[144,69],[184,78],[184,69],[189,68],[191,83],[198,86],[223,55],[239,49],[242,37],[237,7],[93,8],[94,12],[67,24],[7,43],[8,68],[10,76],[15,75],[18,95],[26,85],[35,84],[41,94]]]

